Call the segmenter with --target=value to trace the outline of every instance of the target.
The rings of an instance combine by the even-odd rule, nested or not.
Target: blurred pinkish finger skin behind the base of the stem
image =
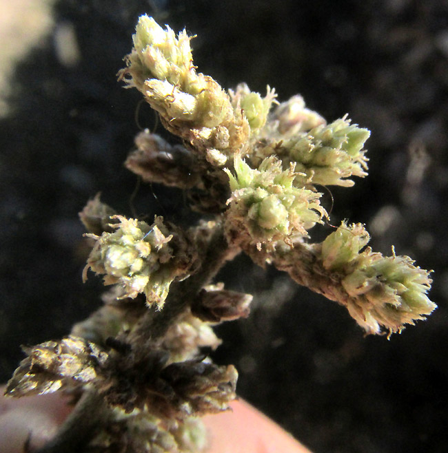
[[[1,389],[3,395],[3,389]],[[23,453],[51,439],[70,413],[58,394],[12,399],[0,397],[0,445],[4,453]],[[210,430],[209,453],[311,453],[272,420],[245,401],[232,411],[204,417]]]

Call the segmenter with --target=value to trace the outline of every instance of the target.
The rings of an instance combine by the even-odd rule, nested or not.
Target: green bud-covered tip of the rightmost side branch
[[[436,308],[427,297],[429,272],[408,256],[384,257],[369,247],[360,252],[368,241],[360,224],[343,223],[322,245],[323,266],[342,274],[350,315],[369,333],[379,333],[380,326],[400,332],[405,324],[425,319]]]

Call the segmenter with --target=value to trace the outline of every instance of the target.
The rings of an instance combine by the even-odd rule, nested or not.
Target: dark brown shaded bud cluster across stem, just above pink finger
[[[130,414],[145,410],[161,419],[184,419],[229,408],[236,397],[238,372],[204,357],[169,363],[167,351],[112,350],[95,386],[109,405]],[[152,348],[151,346],[154,346]]]

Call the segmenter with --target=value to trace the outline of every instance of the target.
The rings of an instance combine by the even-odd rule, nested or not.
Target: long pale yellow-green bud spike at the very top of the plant
[[[193,65],[190,36],[176,38],[152,17],[142,16],[132,36],[120,78],[136,87],[159,112],[163,125],[180,136],[210,164],[223,167],[234,149],[241,149],[250,126],[241,107],[210,76]]]

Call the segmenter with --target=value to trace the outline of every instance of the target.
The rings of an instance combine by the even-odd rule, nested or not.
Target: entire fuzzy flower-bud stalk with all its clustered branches
[[[26,348],[8,383],[11,396],[62,389],[101,401],[86,452],[207,447],[196,417],[229,408],[237,372],[203,348],[215,349],[212,327],[247,317],[252,301],[212,280],[241,251],[343,304],[367,333],[400,332],[436,307],[429,273],[409,257],[372,252],[363,225],[343,222],[322,243],[309,240],[329,218],[317,186],[350,187],[367,175],[369,131],[346,116],[327,124],[301,96],[278,103],[269,87],[264,97],[245,84],[225,92],[196,72],[190,39],[139,19],[119,79],[139,89],[182,145],[143,131],[125,166],[182,189],[214,220],[183,231],[90,200],[80,213],[92,244],[84,278],[91,269],[112,290],[69,337]],[[85,415],[79,407],[72,426]]]

